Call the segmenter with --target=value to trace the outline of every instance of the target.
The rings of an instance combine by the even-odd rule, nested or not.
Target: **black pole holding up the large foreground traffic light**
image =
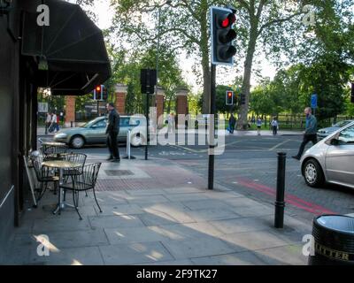
[[[216,92],[216,86],[215,86],[215,77],[216,77],[216,65],[212,64],[211,67],[211,99],[210,99],[210,121],[209,121],[209,168],[208,168],[208,189],[213,189],[214,188],[214,153],[213,149],[215,148],[214,146],[214,138],[215,138],[215,119],[214,119],[214,114],[215,114],[215,92]]]

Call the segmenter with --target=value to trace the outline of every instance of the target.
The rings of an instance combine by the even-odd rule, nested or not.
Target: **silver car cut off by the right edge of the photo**
[[[301,172],[311,187],[327,181],[354,188],[354,122],[308,149],[301,158]]]

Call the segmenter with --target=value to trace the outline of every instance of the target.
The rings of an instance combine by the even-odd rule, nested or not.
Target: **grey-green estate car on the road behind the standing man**
[[[135,147],[145,142],[146,119],[144,116],[120,116],[118,142],[127,142],[127,131],[131,130],[131,144]],[[106,143],[105,129],[107,117],[98,117],[84,126],[61,129],[54,135],[55,142],[64,142],[74,149],[81,149],[87,144]],[[150,130],[151,131],[151,130]]]

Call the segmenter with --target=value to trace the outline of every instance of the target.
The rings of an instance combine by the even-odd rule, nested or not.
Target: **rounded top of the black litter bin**
[[[345,215],[324,215],[317,218],[317,223],[326,228],[354,234],[354,218]]]

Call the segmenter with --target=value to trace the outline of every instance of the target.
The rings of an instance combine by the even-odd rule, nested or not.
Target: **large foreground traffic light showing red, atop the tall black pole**
[[[212,7],[211,17],[212,64],[234,65],[235,13],[230,9]]]

